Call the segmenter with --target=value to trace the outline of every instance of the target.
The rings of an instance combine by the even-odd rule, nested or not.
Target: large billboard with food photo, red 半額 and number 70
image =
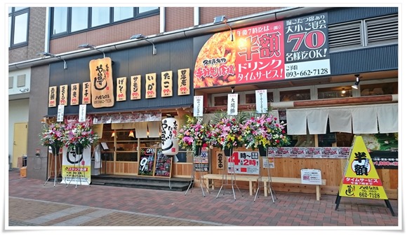
[[[318,13],[213,34],[196,57],[194,88],[329,74],[328,14]]]

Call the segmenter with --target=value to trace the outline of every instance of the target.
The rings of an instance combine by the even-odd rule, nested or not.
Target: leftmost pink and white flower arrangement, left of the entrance
[[[53,123],[48,127],[44,126],[39,135],[41,145],[62,147],[64,145],[65,124]]]

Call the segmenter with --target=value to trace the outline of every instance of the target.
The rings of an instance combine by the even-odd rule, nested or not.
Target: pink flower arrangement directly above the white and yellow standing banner
[[[69,149],[74,149],[76,145],[88,148],[98,139],[98,134],[95,134],[92,128],[85,122],[68,124],[65,130],[65,145]]]

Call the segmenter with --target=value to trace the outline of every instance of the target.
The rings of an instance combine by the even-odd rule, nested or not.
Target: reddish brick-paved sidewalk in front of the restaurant
[[[8,190],[8,192],[7,192]],[[223,193],[224,192],[224,193]],[[255,226],[260,229],[357,229],[401,230],[398,200],[389,200],[392,216],[383,200],[342,197],[335,211],[335,196],[276,192],[277,199],[253,201],[248,190],[218,190],[202,194],[201,187],[185,192],[144,190],[102,185],[56,184],[53,180],[21,178],[9,171],[6,187],[6,230],[39,229],[46,226],[84,229],[129,227],[219,227]],[[8,193],[8,194],[7,194]],[[262,194],[260,192],[259,194]],[[401,215],[400,215],[401,217]],[[7,219],[8,218],[8,219]],[[236,228],[233,228],[236,229]]]

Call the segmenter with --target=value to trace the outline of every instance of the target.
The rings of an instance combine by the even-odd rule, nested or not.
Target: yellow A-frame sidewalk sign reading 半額
[[[373,165],[362,136],[354,136],[352,150],[347,157],[347,164],[336,196],[335,211],[338,211],[341,197],[384,199],[386,206],[394,216],[392,205],[387,199],[382,181]]]

